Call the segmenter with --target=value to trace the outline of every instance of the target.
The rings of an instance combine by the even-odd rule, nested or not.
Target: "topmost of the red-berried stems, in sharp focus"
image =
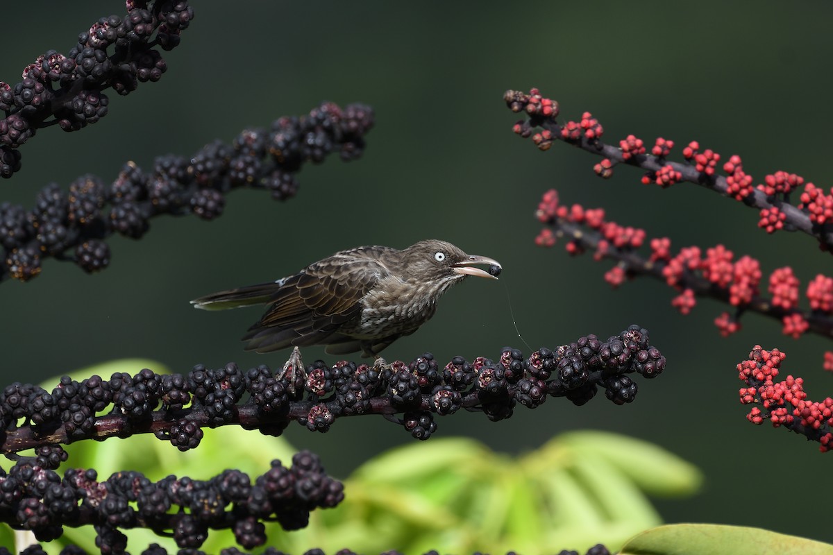
[[[669,162],[674,141],[658,137],[651,153],[646,153],[646,141],[635,135],[628,135],[618,141],[618,146],[601,141],[602,127],[590,112],[581,116],[581,121],[556,121],[559,110],[546,111],[544,107],[558,107],[558,103],[541,96],[537,89],[530,92],[507,91],[506,105],[515,112],[524,112],[526,120],[516,122],[512,130],[521,137],[531,137],[542,151],[549,150],[554,141],[561,139],[601,156],[602,161],[593,166],[598,176],[613,175],[616,164],[638,166],[646,170],[641,181],[663,188],[680,181],[689,181],[705,186],[723,196],[729,196],[746,206],[760,211],[758,226],[767,233],[776,230],[801,230],[819,241],[822,250],[833,250],[833,189],[825,191],[804,178],[786,171],[776,171],[764,178],[764,183],[754,185],[752,176],[743,168],[741,156],[729,156],[719,166],[721,155],[711,149],[702,149],[697,141],[691,141],[683,148],[685,162]],[[722,169],[726,175],[718,175]],[[798,206],[790,203],[792,191],[803,187]]]

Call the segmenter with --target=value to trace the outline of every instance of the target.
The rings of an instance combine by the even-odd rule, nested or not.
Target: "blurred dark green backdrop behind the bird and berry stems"
[[[86,172],[112,181],[125,161],[149,168],[157,155],[190,156],[213,139],[231,141],[247,126],[305,113],[322,100],[375,108],[365,156],[305,167],[299,194],[287,203],[237,191],[217,221],[162,217],[141,241],[114,237],[111,267],[99,275],[47,260],[36,280],[3,283],[4,383],[37,383],[131,356],[183,373],[197,363],[278,366],[284,354],[243,353],[237,340],[258,309],[207,313],[187,301],[276,279],[343,248],[436,237],[501,260],[501,281],[468,280],[452,290],[428,325],[386,351],[388,359],[425,350],[441,361],[495,356],[506,344],[528,352],[512,325],[508,290],[533,347],[606,337],[638,323],[669,361],[659,379],[638,380],[638,398],[625,407],[603,395],[581,408],[551,399],[498,424],[479,414],[439,419],[437,434],[468,435],[511,453],[569,429],[631,434],[706,473],[697,498],[657,503],[668,522],[745,524],[833,541],[825,513],[812,505],[818,498],[822,507],[831,455],[783,430],[748,424],[735,371],[754,344],[779,347],[789,355],[786,372],[803,376],[811,398],[821,398],[830,344],[786,339],[779,323],[757,315],[722,339],[712,320],[723,306],[702,300],[683,317],[671,308],[673,292],[656,282],[612,291],[602,280],[608,264],[571,259],[562,245],[536,248],[532,215],[541,193],[555,187],[566,203],[603,206],[623,225],[670,236],[676,249],[721,242],[738,256],[756,256],[765,283],[771,270],[792,265],[806,284],[830,273],[829,256],[805,236],[767,236],[756,228],[756,211],[696,186],[642,186],[632,168],[602,181],[591,170],[597,160],[584,152],[562,143],[539,152],[512,134],[517,117],[501,101],[507,88],[540,87],[561,102],[563,116],[591,111],[607,141],[664,136],[676,141],[679,160],[680,147],[696,139],[724,160],[740,154],[756,182],[786,170],[826,187],[829,165],[818,152],[831,123],[831,5],[195,4],[182,46],[165,54],[162,81],[126,98],[110,95],[110,114],[81,132],[39,131],[22,147],[22,171],[0,183],[0,200],[28,208],[49,181],[66,187]],[[17,82],[38,54],[66,52],[98,17],[123,12],[115,0],[7,2],[0,78]],[[304,352],[307,362],[321,354]],[[341,476],[412,441],[378,418],[344,419],[326,435],[292,426],[287,438],[320,453]]]

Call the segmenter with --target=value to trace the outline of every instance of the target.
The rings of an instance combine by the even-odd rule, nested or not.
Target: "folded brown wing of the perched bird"
[[[382,249],[387,247],[342,251],[289,277],[272,295],[266,314],[243,338],[249,340],[247,350],[336,339],[339,326],[362,312],[362,297],[387,275],[387,268],[377,260]]]

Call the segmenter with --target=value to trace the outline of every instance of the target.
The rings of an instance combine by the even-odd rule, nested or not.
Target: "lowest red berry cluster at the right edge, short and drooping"
[[[828,357],[830,358],[830,357]],[[804,379],[789,375],[776,381],[786,354],[778,349],[767,351],[755,345],[749,358],[737,365],[741,404],[756,404],[746,415],[752,424],[769,419],[774,428],[784,427],[807,439],[819,442],[822,453],[833,448],[833,399],[807,399]]]

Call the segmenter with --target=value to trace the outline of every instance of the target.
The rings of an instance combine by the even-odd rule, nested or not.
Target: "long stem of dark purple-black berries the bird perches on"
[[[337,418],[360,414],[403,414],[394,420],[428,439],[436,430],[434,414],[459,409],[500,420],[517,403],[534,409],[547,396],[585,404],[600,387],[614,403],[630,403],[636,383],[628,374],[654,378],[666,365],[638,325],[605,341],[586,335],[526,358],[507,347],[496,360],[455,357],[444,366],[430,353],[410,364],[317,360],[304,367],[296,350],[290,361],[277,373],[266,365],[244,372],[230,363],[197,365],[185,375],[142,369],[110,379],[64,377],[52,392],[14,383],[0,392],[2,452],[150,432],[184,451],[199,445],[204,427],[238,424],[280,435],[296,420],[327,432]]]

